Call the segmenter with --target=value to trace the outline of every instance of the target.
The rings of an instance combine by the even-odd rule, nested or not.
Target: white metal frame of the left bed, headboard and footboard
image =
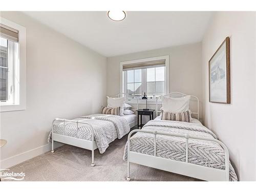
[[[127,96],[130,96],[132,98],[136,98],[137,99],[137,109],[138,109],[138,98],[136,96],[133,96],[133,95],[129,95],[129,94],[125,94],[125,93],[120,93],[120,94],[117,94],[117,95],[114,95],[114,96],[110,96],[110,97],[120,97],[121,95],[125,95],[126,97]],[[92,117],[92,119],[94,119]],[[51,152],[54,153],[54,141],[58,141],[58,142],[61,142],[61,143],[66,143],[66,144],[70,144],[70,145],[73,145],[73,146],[77,146],[77,147],[81,147],[81,148],[84,148],[86,150],[91,150],[92,151],[92,163],[91,165],[94,166],[94,150],[96,150],[98,148],[97,144],[96,144],[96,141],[94,140],[94,128],[93,128],[93,125],[91,123],[88,123],[88,122],[84,122],[84,120],[87,120],[87,119],[83,119],[83,120],[70,120],[70,119],[60,119],[60,118],[56,118],[53,120],[52,122],[52,150]],[[66,136],[66,135],[60,135],[60,134],[56,134],[56,133],[53,133],[53,124],[55,121],[62,121],[63,122],[63,132],[65,133],[65,123],[66,122],[74,122],[76,123],[76,137],[70,137],[70,136]],[[131,126],[135,126],[133,125],[133,123],[136,123],[135,122],[132,122],[130,123],[130,128]],[[92,140],[89,141],[89,140],[84,140],[84,139],[79,139],[77,138],[78,137],[78,124],[87,124],[90,126],[90,129],[92,130]]]

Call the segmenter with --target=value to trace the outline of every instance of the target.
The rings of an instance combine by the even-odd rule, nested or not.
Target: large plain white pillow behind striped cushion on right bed
[[[190,95],[185,97],[163,97],[163,111],[181,113],[189,110]]]

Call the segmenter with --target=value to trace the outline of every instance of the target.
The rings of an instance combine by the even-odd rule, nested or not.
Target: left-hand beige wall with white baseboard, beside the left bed
[[[106,57],[20,12],[1,12],[27,29],[27,109],[2,112],[1,168],[50,150],[56,117],[97,113],[106,99]]]

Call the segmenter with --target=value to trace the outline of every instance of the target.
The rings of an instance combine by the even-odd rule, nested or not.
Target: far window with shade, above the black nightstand
[[[148,99],[156,99],[168,93],[168,56],[155,59],[121,62],[123,93],[141,98],[145,92]]]

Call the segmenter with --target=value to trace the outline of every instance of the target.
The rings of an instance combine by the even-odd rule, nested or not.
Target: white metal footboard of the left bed
[[[93,118],[94,119],[94,118]],[[59,135],[56,134],[57,136],[57,140],[55,141],[59,141],[62,143],[67,143],[67,144],[71,144],[74,146],[78,146],[78,147],[82,147],[82,148],[86,148],[87,150],[91,150],[92,151],[92,166],[94,166],[94,150],[97,148],[97,145],[95,146],[95,142],[94,142],[94,129],[93,129],[93,125],[91,123],[88,122],[84,122],[84,121],[75,121],[75,120],[69,120],[69,119],[60,119],[60,118],[56,118],[53,120],[52,122],[52,153],[54,153],[54,146],[53,146],[53,142],[54,142],[54,133],[53,133],[53,124],[55,121],[62,121],[63,122],[63,132],[64,135]],[[69,137],[65,135],[65,122],[74,122],[76,123],[76,137]],[[90,129],[92,130],[92,140],[91,141],[87,141],[87,140],[82,140],[78,138],[78,124],[87,124],[90,126]],[[83,146],[83,144],[86,144]]]

